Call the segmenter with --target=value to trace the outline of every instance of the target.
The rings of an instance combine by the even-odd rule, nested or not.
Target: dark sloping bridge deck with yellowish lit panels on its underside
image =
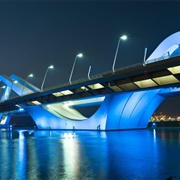
[[[180,86],[180,56],[155,63],[133,65],[85,79],[73,84],[59,85],[0,103],[0,112],[18,110],[21,106],[43,105],[78,98],[102,96],[124,91]]]

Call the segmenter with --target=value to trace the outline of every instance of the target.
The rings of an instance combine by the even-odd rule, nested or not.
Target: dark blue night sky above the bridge
[[[116,68],[143,61],[169,35],[180,29],[178,1],[0,1],[0,73],[16,74],[44,87],[110,71],[119,36],[128,40],[119,48]],[[178,98],[176,98],[178,100]],[[159,111],[179,114],[177,105]],[[180,98],[179,101],[180,102]],[[173,109],[172,109],[173,107]]]

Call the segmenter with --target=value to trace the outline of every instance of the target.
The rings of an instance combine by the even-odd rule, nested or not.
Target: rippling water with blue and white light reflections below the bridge
[[[0,134],[2,180],[180,179],[180,128]]]

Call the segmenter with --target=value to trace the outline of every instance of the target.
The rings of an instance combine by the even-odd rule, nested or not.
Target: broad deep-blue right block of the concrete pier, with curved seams
[[[151,115],[165,99],[158,92],[159,89],[113,95],[106,129],[146,128]]]

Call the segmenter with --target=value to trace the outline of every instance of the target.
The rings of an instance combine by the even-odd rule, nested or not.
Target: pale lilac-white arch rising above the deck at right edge
[[[146,63],[151,63],[171,57],[180,46],[180,31],[172,34],[162,41],[154,52],[148,57]]]

